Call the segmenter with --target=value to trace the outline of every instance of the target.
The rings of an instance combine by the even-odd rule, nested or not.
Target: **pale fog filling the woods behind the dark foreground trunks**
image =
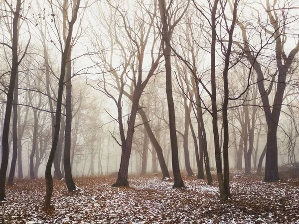
[[[73,177],[117,176],[122,156],[130,158],[129,175],[140,175],[142,169],[149,174],[160,173],[157,146],[152,142],[153,137],[149,137],[145,124],[149,124],[162,149],[166,168],[173,170],[175,144],[171,143],[173,134],[169,134],[173,122],[169,121],[169,96],[166,94],[169,80],[165,81],[168,58],[175,111],[174,133],[183,175],[197,175],[198,168],[202,172],[206,170],[207,158],[211,170],[216,171],[215,155],[221,156],[221,167],[227,164],[223,161],[227,158],[230,170],[243,172],[246,167],[249,174],[255,173],[267,145],[267,136],[270,139],[268,127],[273,128],[270,123],[267,126],[267,108],[280,112],[273,117],[269,115],[269,122],[272,120],[277,129],[277,164],[284,166],[298,162],[298,2],[240,1],[234,18],[233,2],[227,1],[216,10],[222,17],[216,19],[215,29],[211,28],[213,15],[207,2],[175,1],[163,17],[158,1],[81,0],[68,42],[77,1],[24,1],[19,12],[15,45],[11,10],[15,10],[17,2],[13,0],[10,6],[8,1],[2,1],[1,139],[7,130],[3,126],[12,66],[17,66],[12,103],[12,107],[17,107],[11,112],[8,128],[6,177],[11,170],[15,140],[18,155],[14,177],[45,177],[52,142],[56,138],[58,81],[64,59],[66,75],[61,124],[53,159],[57,166],[51,170],[55,178],[65,175],[63,155],[68,90],[71,91],[69,158]],[[233,19],[235,29],[230,39]],[[215,45],[211,48],[213,30]],[[232,47],[227,55],[229,43]],[[16,48],[17,65],[13,64],[12,45]],[[165,53],[167,47],[170,54]],[[69,49],[66,54],[65,49]],[[211,61],[213,49],[215,64]],[[228,67],[225,67],[226,59]],[[225,89],[225,70],[228,89]],[[281,81],[283,76],[286,81]],[[71,89],[68,89],[70,80]],[[261,82],[264,92],[259,86]],[[282,83],[286,84],[284,90]],[[226,93],[228,105],[224,107]],[[269,105],[263,96],[267,96]],[[279,98],[278,106],[275,102],[279,102]],[[227,110],[227,120],[223,119],[223,110]],[[13,124],[15,113],[17,121]],[[218,125],[217,130],[214,122]],[[220,154],[215,149],[216,132]],[[225,139],[228,139],[228,145],[225,145]],[[267,153],[275,153],[271,150]],[[2,163],[3,155],[1,153]],[[264,153],[262,167],[265,160]],[[191,170],[186,170],[188,166]],[[57,172],[62,175],[57,176]]]

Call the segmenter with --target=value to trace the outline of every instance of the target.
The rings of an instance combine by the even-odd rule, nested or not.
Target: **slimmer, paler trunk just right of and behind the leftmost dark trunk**
[[[12,185],[13,178],[14,178],[14,172],[15,172],[15,164],[17,159],[17,97],[18,97],[18,75],[16,73],[15,76],[15,84],[14,84],[14,97],[13,97],[13,117],[12,117],[12,159],[11,159],[11,165],[10,165],[10,171],[8,176],[8,185]]]

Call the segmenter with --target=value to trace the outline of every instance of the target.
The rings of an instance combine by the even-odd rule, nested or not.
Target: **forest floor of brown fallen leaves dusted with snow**
[[[159,177],[131,177],[113,188],[113,176],[75,178],[82,191],[67,193],[54,181],[50,212],[42,210],[44,180],[16,180],[0,203],[0,224],[299,224],[299,179],[264,183],[261,176],[231,174],[231,200],[221,202],[215,181],[185,177],[172,189]],[[215,178],[214,178],[215,180]]]

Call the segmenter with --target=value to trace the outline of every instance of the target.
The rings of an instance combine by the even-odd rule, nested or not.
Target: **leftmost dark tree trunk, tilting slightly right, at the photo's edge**
[[[5,198],[5,179],[6,179],[6,171],[8,165],[8,154],[9,154],[9,125],[10,125],[10,116],[11,116],[11,108],[13,102],[13,91],[14,84],[16,80],[17,68],[18,68],[18,54],[17,54],[17,46],[18,46],[18,20],[19,13],[21,8],[21,0],[16,0],[15,12],[13,13],[12,20],[12,60],[11,60],[11,72],[10,72],[10,80],[7,92],[7,102],[5,108],[4,115],[4,123],[3,123],[3,132],[2,132],[2,160],[1,160],[1,168],[0,168],[0,202],[7,201]]]

